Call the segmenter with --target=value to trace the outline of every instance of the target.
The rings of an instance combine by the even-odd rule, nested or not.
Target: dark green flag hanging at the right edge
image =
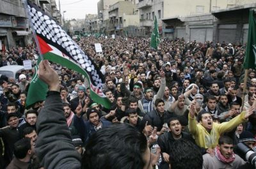
[[[256,68],[256,17],[253,10],[249,14],[248,40],[244,59],[244,69]]]

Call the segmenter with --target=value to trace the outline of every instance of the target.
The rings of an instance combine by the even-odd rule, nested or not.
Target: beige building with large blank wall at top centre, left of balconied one
[[[135,13],[136,5],[130,1],[118,1],[109,6],[107,34],[122,35],[124,26],[139,26],[139,15]]]

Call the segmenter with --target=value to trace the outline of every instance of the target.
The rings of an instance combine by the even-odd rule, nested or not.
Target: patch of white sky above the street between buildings
[[[97,14],[97,3],[99,0],[56,0],[56,4],[61,8],[61,15],[66,11],[65,20],[71,18],[85,18],[86,14]]]

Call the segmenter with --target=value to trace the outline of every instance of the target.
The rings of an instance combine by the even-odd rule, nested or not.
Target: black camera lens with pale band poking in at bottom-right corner
[[[237,152],[242,155],[241,158],[245,159],[256,168],[256,152],[244,143],[237,143]]]

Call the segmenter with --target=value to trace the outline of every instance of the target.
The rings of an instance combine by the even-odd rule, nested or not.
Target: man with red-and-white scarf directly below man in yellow
[[[214,156],[204,154],[203,169],[215,168],[238,168],[246,162],[233,152],[233,140],[228,136],[221,136],[217,147],[214,149]]]

